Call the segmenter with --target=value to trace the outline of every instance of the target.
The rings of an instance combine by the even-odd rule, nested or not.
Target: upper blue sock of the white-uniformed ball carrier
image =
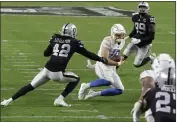
[[[90,82],[90,87],[97,87],[97,86],[109,86],[111,83],[105,79],[97,79]]]

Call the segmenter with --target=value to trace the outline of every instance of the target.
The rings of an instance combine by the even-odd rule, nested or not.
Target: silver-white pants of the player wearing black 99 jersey
[[[123,54],[129,56],[131,53],[136,52],[136,56],[133,64],[139,66],[141,65],[142,61],[150,55],[151,48],[152,48],[152,44],[139,48],[135,44],[129,43],[125,48]]]

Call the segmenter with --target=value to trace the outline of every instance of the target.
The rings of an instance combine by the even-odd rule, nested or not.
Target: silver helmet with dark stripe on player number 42
[[[77,36],[76,26],[72,23],[64,24],[62,29],[61,29],[61,35],[76,38],[76,36]]]

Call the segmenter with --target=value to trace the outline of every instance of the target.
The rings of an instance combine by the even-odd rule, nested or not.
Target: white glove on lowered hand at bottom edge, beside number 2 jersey
[[[142,107],[141,101],[138,101],[134,104],[134,108],[131,111],[133,122],[139,122],[140,115],[141,115],[141,110],[140,110],[141,107]]]

